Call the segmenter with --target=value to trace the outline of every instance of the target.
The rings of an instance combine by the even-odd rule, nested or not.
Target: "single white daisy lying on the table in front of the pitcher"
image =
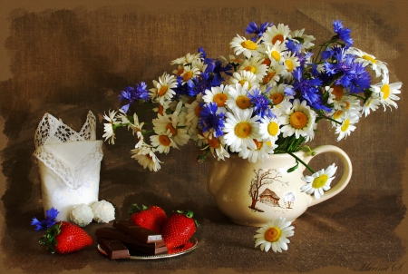
[[[257,239],[255,247],[260,245],[260,249],[266,252],[270,249],[275,252],[287,250],[287,244],[290,242],[287,238],[295,234],[295,228],[290,226],[291,223],[282,217],[269,221],[265,226],[257,230],[257,235],[254,236]]]

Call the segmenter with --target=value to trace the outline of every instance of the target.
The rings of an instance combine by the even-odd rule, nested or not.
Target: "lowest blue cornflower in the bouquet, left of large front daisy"
[[[218,110],[217,103],[206,103],[199,112],[199,126],[201,126],[202,132],[214,132],[216,138],[224,134],[222,128],[224,127],[225,113],[218,113]]]

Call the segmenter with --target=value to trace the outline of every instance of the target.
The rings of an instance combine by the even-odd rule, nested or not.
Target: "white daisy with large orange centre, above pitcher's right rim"
[[[295,134],[296,139],[300,136],[306,137],[306,141],[315,136],[316,113],[306,105],[306,100],[299,102],[299,99],[293,101],[293,106],[286,113],[282,113],[281,122],[284,126],[281,128],[283,137]]]

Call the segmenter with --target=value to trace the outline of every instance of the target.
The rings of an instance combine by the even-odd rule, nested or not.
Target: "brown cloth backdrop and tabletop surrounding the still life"
[[[355,273],[364,264],[403,264],[406,254],[408,103],[381,109],[336,142],[328,124],[311,144],[335,144],[350,156],[353,178],[345,191],[310,208],[294,222],[295,236],[283,253],[254,249],[255,228],[232,224],[207,191],[209,163],[197,164],[189,145],[166,157],[161,171],[144,171],[130,158],[127,132],[104,144],[100,200],[111,201],[118,219],[132,202],[165,210],[194,210],[202,229],[188,255],[157,261],[110,261],[95,247],[68,256],[37,244],[42,232],[30,220],[42,217],[34,130],[52,113],[79,131],[92,110],[102,139],[102,114],[116,109],[125,86],[171,71],[170,61],[202,46],[209,56],[228,56],[229,41],[250,21],[306,28],[316,43],[344,20],[355,46],[388,63],[391,82],[408,83],[406,1],[4,1],[0,9],[0,269],[3,273],[323,272]],[[171,3],[171,4],[170,4]],[[329,133],[326,133],[329,132]],[[329,162],[330,161],[330,162]],[[316,167],[331,163],[316,160]],[[316,168],[317,169],[317,168]],[[86,227],[91,234],[101,225]]]

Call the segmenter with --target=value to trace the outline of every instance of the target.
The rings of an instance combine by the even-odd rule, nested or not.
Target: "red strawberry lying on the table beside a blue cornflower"
[[[82,228],[68,221],[60,221],[47,230],[40,243],[52,253],[67,254],[92,246],[93,240]]]

